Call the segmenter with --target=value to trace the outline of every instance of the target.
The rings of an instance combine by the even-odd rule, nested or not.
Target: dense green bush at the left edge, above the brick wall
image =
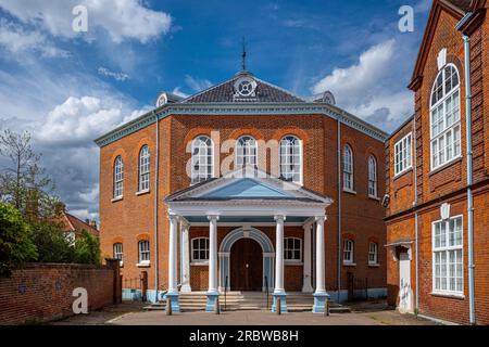
[[[10,277],[12,270],[25,261],[36,259],[36,246],[29,226],[12,205],[0,203],[0,277]]]

